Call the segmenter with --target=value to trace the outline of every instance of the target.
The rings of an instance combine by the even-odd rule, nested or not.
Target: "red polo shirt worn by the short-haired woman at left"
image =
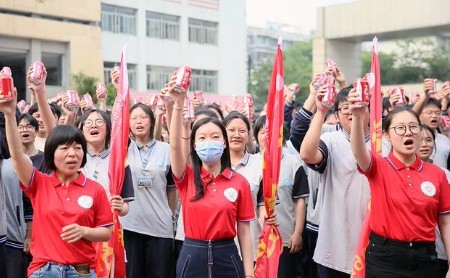
[[[28,275],[48,262],[65,265],[89,263],[96,267],[96,251],[91,241],[70,244],[61,239],[62,228],[70,224],[106,227],[113,224],[111,206],[103,187],[80,172],[68,186],[55,173],[50,176],[33,170],[29,188],[21,184],[34,208]]]

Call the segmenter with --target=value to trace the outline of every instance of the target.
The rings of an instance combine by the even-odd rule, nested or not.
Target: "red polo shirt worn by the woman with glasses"
[[[438,214],[450,212],[450,186],[444,171],[417,155],[409,167],[392,152],[385,158],[372,153],[371,157],[371,166],[363,174],[372,195],[372,231],[406,242],[435,241]]]

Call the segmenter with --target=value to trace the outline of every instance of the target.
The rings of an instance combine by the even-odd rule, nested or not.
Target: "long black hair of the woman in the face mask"
[[[194,148],[195,145],[195,134],[197,133],[197,130],[208,123],[213,123],[216,126],[220,128],[222,131],[223,140],[225,141],[225,148],[223,150],[222,157],[220,158],[220,172],[223,172],[226,168],[231,168],[231,159],[230,159],[230,146],[228,144],[228,137],[227,137],[227,131],[225,130],[225,126],[223,123],[217,119],[212,117],[207,117],[199,120],[195,123],[194,127],[192,128],[191,132],[191,160],[192,160],[192,168],[194,169],[194,183],[195,183],[195,191],[196,195],[191,199],[191,202],[195,202],[200,200],[205,196],[205,187],[209,184],[203,185],[202,178],[201,178],[201,167],[202,167],[202,160],[197,155],[197,151]]]

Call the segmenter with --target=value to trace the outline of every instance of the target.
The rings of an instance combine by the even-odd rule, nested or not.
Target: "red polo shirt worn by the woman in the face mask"
[[[214,178],[203,167],[201,179],[206,185],[205,196],[191,202],[196,195],[192,168],[186,166],[181,180],[174,177],[183,206],[186,237],[198,240],[236,237],[236,221],[255,218],[247,180],[228,168]]]

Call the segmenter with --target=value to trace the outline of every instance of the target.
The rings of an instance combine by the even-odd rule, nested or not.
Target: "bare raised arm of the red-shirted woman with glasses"
[[[355,103],[358,101],[358,93],[352,89],[348,94],[350,113],[352,113],[352,132],[350,134],[350,144],[353,155],[356,158],[359,168],[367,172],[370,167],[371,158],[364,141],[364,113],[367,109],[365,105]]]

